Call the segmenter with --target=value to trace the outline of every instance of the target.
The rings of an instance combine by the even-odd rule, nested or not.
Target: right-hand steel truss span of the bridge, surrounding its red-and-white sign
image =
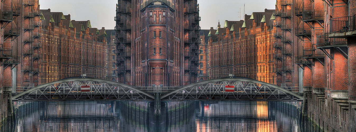
[[[226,92],[225,85],[235,86]],[[293,90],[262,81],[242,78],[221,78],[200,81],[183,86],[161,96],[161,100],[274,100],[295,101],[303,99]]]

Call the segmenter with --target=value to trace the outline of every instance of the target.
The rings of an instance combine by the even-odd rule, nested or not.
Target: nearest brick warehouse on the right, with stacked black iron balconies
[[[293,23],[285,30],[286,37],[292,35],[291,43],[283,46],[291,44],[294,51],[292,60],[307,100],[305,114],[318,125],[315,129],[356,131],[355,5],[350,0],[276,2],[277,31]]]

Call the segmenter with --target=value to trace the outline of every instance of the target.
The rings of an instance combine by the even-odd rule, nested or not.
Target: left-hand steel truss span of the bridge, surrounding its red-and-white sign
[[[81,85],[89,85],[82,92]],[[132,86],[115,81],[93,78],[75,78],[53,81],[15,93],[19,101],[41,100],[152,100],[154,96]]]

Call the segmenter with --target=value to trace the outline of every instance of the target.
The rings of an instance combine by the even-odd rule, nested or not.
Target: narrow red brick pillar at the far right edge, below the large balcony
[[[356,105],[356,38],[347,38],[347,47],[349,48],[349,102]]]

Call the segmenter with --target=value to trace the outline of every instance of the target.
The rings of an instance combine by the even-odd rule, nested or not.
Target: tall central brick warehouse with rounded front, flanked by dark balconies
[[[119,0],[115,17],[118,81],[132,86],[196,82],[198,8],[197,0]]]

